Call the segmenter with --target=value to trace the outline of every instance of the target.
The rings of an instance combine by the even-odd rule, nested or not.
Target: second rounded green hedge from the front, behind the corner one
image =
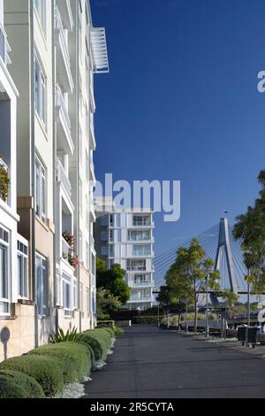
[[[33,377],[41,384],[46,397],[54,396],[64,389],[61,362],[56,358],[24,355],[7,359],[1,363],[0,369],[15,370]]]

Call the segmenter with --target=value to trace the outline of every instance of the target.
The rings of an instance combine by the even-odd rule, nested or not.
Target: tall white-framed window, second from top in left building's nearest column
[[[40,119],[46,124],[46,78],[42,72],[42,67],[35,58],[35,110]]]

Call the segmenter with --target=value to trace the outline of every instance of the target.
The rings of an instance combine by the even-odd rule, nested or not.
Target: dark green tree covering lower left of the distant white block
[[[125,281],[125,270],[120,265],[114,264],[107,269],[105,262],[96,258],[96,285],[98,288],[107,289],[117,297],[121,305],[126,304],[131,295],[131,289]]]

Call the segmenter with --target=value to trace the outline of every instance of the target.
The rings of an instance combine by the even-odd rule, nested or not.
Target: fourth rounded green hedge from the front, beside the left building
[[[95,360],[104,360],[111,344],[110,332],[106,328],[88,329],[77,336],[77,342],[87,343],[95,353]]]

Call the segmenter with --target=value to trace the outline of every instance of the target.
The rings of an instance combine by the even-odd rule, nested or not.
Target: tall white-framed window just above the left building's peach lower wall
[[[45,221],[46,219],[46,170],[40,159],[35,157],[35,212]]]

